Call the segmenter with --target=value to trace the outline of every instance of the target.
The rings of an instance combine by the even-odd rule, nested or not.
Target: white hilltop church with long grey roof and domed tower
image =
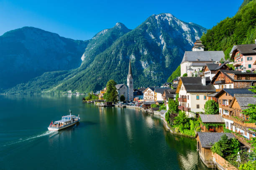
[[[202,68],[207,63],[219,63],[225,60],[223,51],[204,51],[204,45],[200,40],[196,40],[192,51],[185,51],[181,62],[181,76],[187,73],[188,77],[199,75]]]

